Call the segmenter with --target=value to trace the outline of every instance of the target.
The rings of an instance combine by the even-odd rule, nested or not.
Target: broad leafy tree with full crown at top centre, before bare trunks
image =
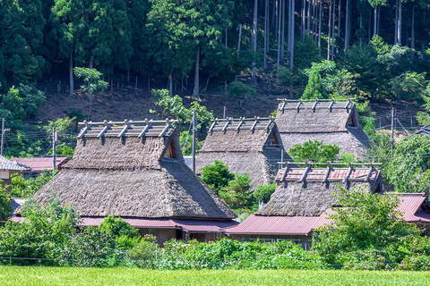
[[[150,1],[147,28],[152,31],[149,51],[160,71],[169,78],[172,95],[173,77],[182,79],[192,71],[194,63],[194,91],[200,91],[199,70],[201,53],[208,54],[221,45],[222,31],[231,25],[234,2],[200,0],[180,2]]]

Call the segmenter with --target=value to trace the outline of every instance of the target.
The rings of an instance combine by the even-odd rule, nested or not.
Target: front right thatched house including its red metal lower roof
[[[370,168],[285,168],[276,176],[271,200],[244,222],[225,231],[236,240],[288,239],[309,248],[314,225],[320,216],[339,201],[331,195],[357,186],[371,192],[382,191],[382,175]],[[321,220],[320,220],[321,221]]]

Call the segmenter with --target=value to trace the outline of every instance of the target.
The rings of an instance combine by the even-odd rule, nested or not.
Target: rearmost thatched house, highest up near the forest
[[[278,106],[276,123],[285,150],[307,140],[336,144],[340,152],[366,155],[369,138],[361,129],[356,105],[348,99],[288,100]]]

